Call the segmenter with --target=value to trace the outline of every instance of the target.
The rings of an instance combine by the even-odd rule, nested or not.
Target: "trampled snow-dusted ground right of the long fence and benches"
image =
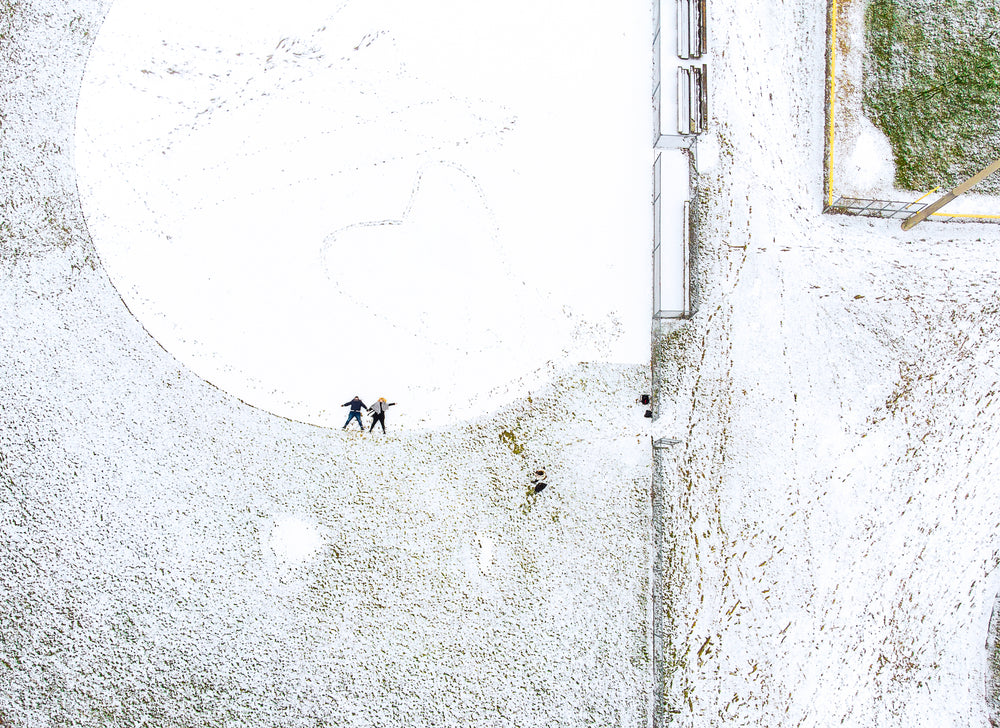
[[[655,350],[661,717],[984,726],[996,228],[823,216],[823,8],[712,7],[698,313]]]

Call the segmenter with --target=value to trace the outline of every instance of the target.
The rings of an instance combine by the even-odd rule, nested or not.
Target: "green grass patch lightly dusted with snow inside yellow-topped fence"
[[[951,188],[1000,158],[1000,0],[871,0],[864,111],[896,186]],[[1000,175],[977,185],[1000,192]]]

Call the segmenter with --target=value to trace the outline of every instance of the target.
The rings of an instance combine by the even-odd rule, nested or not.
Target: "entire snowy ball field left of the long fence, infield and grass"
[[[320,6],[4,8],[0,718],[646,725],[651,14]]]

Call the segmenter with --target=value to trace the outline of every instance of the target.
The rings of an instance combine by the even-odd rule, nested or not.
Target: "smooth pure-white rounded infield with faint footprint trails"
[[[648,357],[641,55],[555,12],[455,33],[422,8],[117,0],[93,47],[77,167],[101,260],[247,403],[339,426],[385,396],[390,427],[429,425],[553,363]]]

